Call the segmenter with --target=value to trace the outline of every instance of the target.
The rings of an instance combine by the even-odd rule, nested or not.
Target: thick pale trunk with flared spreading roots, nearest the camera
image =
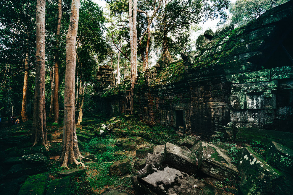
[[[75,129],[75,66],[76,53],[75,43],[79,18],[79,0],[71,1],[71,16],[69,28],[66,36],[66,70],[65,70],[65,89],[64,89],[64,128],[63,143],[59,162],[62,167],[68,168],[68,163],[76,165],[84,164],[76,159],[81,157],[78,149],[78,142]]]

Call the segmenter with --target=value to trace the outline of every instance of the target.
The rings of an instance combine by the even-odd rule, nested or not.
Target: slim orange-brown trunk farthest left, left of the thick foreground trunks
[[[22,90],[22,106],[21,106],[21,118],[22,122],[28,121],[28,114],[26,113],[26,103],[28,98],[28,49],[25,55],[25,76],[23,81]]]

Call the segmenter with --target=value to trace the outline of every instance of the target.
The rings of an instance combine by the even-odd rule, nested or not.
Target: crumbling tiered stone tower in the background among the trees
[[[116,78],[112,67],[108,65],[100,66],[96,74],[96,80],[99,85],[95,86],[97,93],[102,93],[116,86]]]

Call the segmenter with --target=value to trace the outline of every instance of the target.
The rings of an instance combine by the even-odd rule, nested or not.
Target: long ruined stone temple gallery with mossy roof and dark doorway
[[[237,29],[206,31],[182,61],[147,69],[135,87],[135,114],[181,133],[209,135],[229,125],[292,132],[292,4]],[[116,90],[101,101],[121,114],[125,93]]]

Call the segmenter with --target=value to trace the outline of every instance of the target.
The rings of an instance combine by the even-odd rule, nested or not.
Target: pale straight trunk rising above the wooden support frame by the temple
[[[130,34],[130,45],[131,45],[131,88],[133,88],[134,83],[137,79],[137,30],[136,30],[136,13],[137,13],[137,3],[133,0],[133,16],[132,16],[132,0],[128,1],[129,5],[129,34]]]

